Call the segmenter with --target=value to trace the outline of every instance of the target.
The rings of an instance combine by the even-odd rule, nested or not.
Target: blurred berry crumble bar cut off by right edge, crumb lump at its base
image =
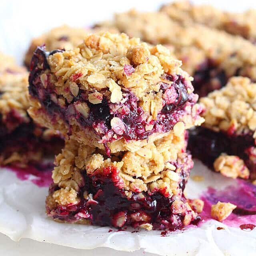
[[[256,178],[256,84],[233,77],[220,90],[200,98],[205,123],[190,134],[190,150],[223,175]],[[225,154],[223,154],[225,153]]]

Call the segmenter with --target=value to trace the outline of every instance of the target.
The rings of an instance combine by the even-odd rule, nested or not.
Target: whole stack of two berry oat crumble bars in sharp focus
[[[72,50],[37,48],[29,113],[66,140],[48,216],[148,230],[200,220],[202,201],[183,191],[193,166],[186,129],[204,119],[180,66],[164,46],[126,34],[89,34]]]

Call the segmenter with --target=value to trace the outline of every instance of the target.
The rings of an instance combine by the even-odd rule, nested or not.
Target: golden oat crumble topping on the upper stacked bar
[[[114,94],[112,103],[122,99],[119,95],[121,88],[130,88],[140,99],[152,90],[160,93],[159,83],[164,72],[181,75],[190,83],[188,74],[180,68],[181,62],[167,48],[149,46],[138,38],[129,39],[125,34],[91,34],[84,38],[84,43],[78,48],[58,52],[48,58],[51,71],[55,74],[51,79],[55,81],[58,93],[68,101],[72,98],[64,89],[72,84],[74,74],[81,75],[76,80],[80,88],[91,92],[109,90],[111,96]],[[134,72],[124,75],[124,65],[131,63],[136,66]],[[192,92],[191,84],[188,90],[188,93]],[[100,95],[94,98],[100,101]]]

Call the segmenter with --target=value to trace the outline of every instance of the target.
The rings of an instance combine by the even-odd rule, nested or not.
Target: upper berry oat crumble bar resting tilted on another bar
[[[191,78],[170,51],[126,34],[86,36],[70,51],[38,48],[30,116],[107,154],[135,151],[170,130],[200,125]]]

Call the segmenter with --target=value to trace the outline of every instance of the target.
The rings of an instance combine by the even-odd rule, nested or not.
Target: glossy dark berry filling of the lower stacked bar
[[[192,168],[191,156],[188,157],[187,164]],[[182,169],[183,180],[180,188],[183,190],[190,169],[185,171],[184,166],[177,168]],[[75,205],[52,207],[51,204],[47,204],[47,199],[47,214],[51,218],[71,223],[88,220],[93,225],[119,228],[124,226],[136,228],[149,223],[154,228],[168,230],[182,228],[185,214],[192,214],[191,211],[177,213],[172,208],[174,200],[186,202],[184,195],[181,198],[177,196],[169,198],[166,191],[158,190],[151,194],[132,192],[132,196],[128,198],[123,187],[123,181],[115,167],[104,168],[90,176],[84,172],[84,184],[79,191],[80,202]],[[53,184],[49,190],[50,195],[58,189],[58,186]],[[182,209],[180,210],[182,212]],[[193,223],[199,220],[200,217],[192,218]]]

